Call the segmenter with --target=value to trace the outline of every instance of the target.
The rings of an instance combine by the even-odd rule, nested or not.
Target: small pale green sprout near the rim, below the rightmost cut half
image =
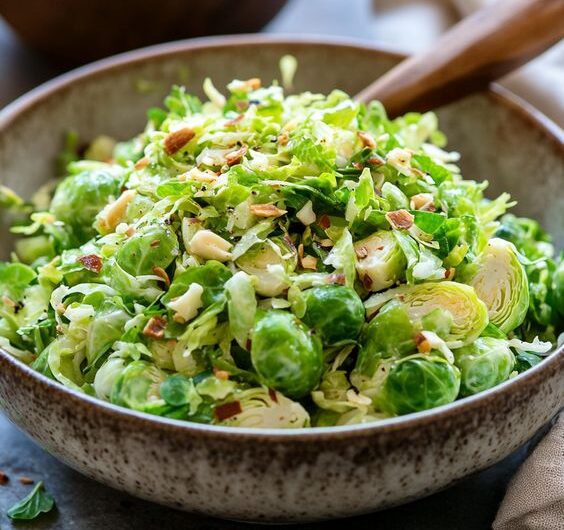
[[[480,337],[473,344],[454,351],[460,368],[460,394],[470,396],[509,379],[515,356],[506,340]]]

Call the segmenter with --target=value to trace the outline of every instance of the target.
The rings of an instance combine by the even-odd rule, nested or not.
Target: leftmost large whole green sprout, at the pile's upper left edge
[[[77,239],[84,243],[96,231],[94,220],[100,210],[119,195],[120,179],[108,171],[83,171],[64,179],[57,187],[51,212],[67,224]]]

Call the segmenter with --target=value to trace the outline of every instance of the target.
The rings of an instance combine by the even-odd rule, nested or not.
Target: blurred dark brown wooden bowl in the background
[[[0,15],[32,48],[64,66],[204,35],[252,33],[286,0],[0,0]]]

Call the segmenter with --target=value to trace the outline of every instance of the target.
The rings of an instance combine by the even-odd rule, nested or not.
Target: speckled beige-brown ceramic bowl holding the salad
[[[278,77],[299,60],[297,90],[355,93],[401,60],[360,44],[258,37],[158,46],[84,67],[34,90],[0,114],[4,184],[24,195],[53,176],[65,130],[86,140],[127,138],[145,109],[184,78]],[[142,81],[151,91],[136,90]],[[441,109],[467,178],[509,190],[517,211],[564,243],[562,131],[494,87]],[[10,248],[3,223],[3,250]],[[427,412],[370,425],[304,431],[182,423],[115,407],[34,373],[0,351],[0,406],[63,462],[95,480],[169,506],[271,522],[343,517],[428,495],[501,460],[564,405],[564,350],[494,389]]]

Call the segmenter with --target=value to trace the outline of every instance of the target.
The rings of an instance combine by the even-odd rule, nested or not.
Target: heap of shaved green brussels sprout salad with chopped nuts
[[[373,422],[539,363],[564,260],[464,180],[433,113],[334,90],[175,86],[145,130],[69,135],[0,264],[0,347],[88,395],[192,422]]]

